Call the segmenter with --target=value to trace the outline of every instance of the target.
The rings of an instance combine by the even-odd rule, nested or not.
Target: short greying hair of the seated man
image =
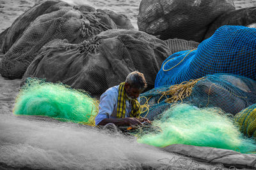
[[[138,88],[141,91],[147,88],[147,82],[144,74],[140,73],[139,71],[133,71],[132,73],[128,74],[125,83],[129,83],[131,87]]]

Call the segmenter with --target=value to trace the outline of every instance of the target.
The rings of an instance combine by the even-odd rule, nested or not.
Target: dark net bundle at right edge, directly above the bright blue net
[[[214,34],[216,29],[223,25],[243,25],[247,26],[256,22],[256,7],[242,8],[240,10],[228,11],[227,13],[218,17],[209,26],[205,38],[207,39]]]

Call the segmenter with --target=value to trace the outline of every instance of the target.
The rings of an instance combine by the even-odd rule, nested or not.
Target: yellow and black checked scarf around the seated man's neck
[[[124,90],[125,82],[120,83],[118,88],[118,101],[117,101],[117,113],[116,118],[124,118],[125,117],[125,99],[127,99]],[[130,99],[129,99],[130,100]],[[130,117],[139,117],[140,116],[140,103],[137,99],[131,100],[132,111],[130,113]]]

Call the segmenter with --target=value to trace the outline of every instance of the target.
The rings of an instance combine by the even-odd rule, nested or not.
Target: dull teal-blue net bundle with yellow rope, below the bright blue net
[[[176,103],[189,103],[198,108],[217,107],[236,115],[256,103],[256,81],[234,74],[212,74],[170,87],[158,87],[141,94],[141,104],[149,111],[142,117],[150,120]]]

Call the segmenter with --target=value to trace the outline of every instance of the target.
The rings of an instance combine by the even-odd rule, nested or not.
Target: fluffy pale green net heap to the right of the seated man
[[[218,109],[198,109],[188,104],[178,104],[153,121],[159,133],[137,134],[138,142],[164,147],[172,144],[209,146],[255,152],[253,139],[244,138],[232,120]]]

